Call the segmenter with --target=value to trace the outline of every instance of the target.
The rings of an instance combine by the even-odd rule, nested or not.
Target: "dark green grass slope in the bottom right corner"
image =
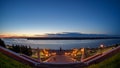
[[[88,68],[119,68],[119,67],[120,67],[120,53],[114,55],[113,57],[99,64],[93,64]]]

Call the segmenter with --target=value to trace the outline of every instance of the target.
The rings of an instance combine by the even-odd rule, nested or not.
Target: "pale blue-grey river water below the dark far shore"
[[[27,40],[27,39],[3,39],[7,45],[27,45],[32,48],[49,48],[49,49],[72,49],[89,47],[99,47],[101,44],[110,46],[120,43],[120,39],[96,39],[96,40]]]

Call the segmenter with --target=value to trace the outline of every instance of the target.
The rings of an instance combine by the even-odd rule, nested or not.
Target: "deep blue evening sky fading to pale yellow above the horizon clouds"
[[[120,35],[119,0],[0,0],[0,35]]]

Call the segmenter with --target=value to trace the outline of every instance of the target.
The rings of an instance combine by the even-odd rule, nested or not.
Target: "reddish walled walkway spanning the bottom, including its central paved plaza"
[[[20,55],[18,53],[15,53],[9,49],[0,47],[0,52],[12,57],[13,59],[20,61],[24,64],[29,64],[35,68],[83,68],[86,66],[89,66],[91,64],[96,64],[99,63],[112,55],[116,54],[117,52],[120,52],[120,46],[106,52],[103,54],[95,55],[92,57],[86,58],[85,61],[76,61],[72,59],[68,55],[63,55],[63,54],[56,54],[54,56],[51,56],[48,58],[48,60],[42,62],[42,61],[37,61],[33,58],[30,58],[29,56],[25,55]],[[62,50],[60,49],[60,52]],[[93,58],[94,57],[94,58]]]

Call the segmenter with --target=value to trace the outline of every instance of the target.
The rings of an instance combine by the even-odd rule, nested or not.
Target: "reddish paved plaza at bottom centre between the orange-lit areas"
[[[69,56],[56,55],[56,56],[50,57],[46,62],[66,63],[66,62],[75,62],[75,60]]]

